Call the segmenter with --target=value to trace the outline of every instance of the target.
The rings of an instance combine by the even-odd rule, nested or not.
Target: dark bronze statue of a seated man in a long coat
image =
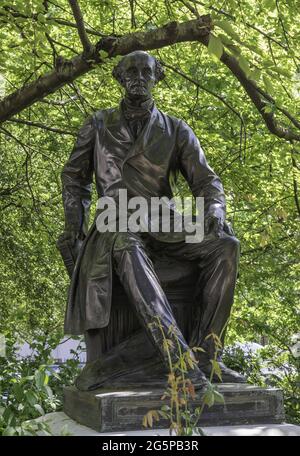
[[[89,361],[76,384],[80,389],[93,389],[115,378],[122,383],[127,362],[132,372],[138,371],[143,363],[148,363],[151,372],[167,372],[162,332],[153,324],[159,317],[165,334],[173,328],[182,352],[194,346],[205,350],[191,352],[199,367],[187,374],[201,388],[207,383],[205,376],[210,375],[210,359],[216,350],[209,335],[214,333],[224,341],[233,302],[239,242],[225,221],[223,186],[207,164],[194,132],[185,122],[155,106],[151,91],[164,78],[160,62],[146,52],[133,52],[118,63],[113,76],[125,89],[120,106],[99,110],[84,123],[62,171],[66,223],[60,244],[68,245],[71,252],[77,246],[79,251],[78,256],[70,254],[69,263],[66,260],[72,279],[65,333],[85,334]],[[172,233],[99,233],[96,221],[88,230],[93,174],[98,196],[117,200],[120,189],[126,189],[129,197],[172,198],[170,178],[178,172],[183,174],[195,197],[204,196],[202,242],[186,243]],[[178,327],[153,267],[151,255],[155,251],[197,264],[197,299],[188,340]],[[68,254],[64,252],[64,256]],[[97,334],[110,322],[114,276],[129,298],[142,335],[140,332],[127,342],[106,349],[104,362],[91,353],[99,341]],[[120,354],[122,347],[126,355]],[[176,343],[170,346],[170,353],[175,362],[179,356]],[[220,353],[218,361],[223,381],[245,382],[243,376],[222,363]],[[142,374],[146,371],[145,367]]]

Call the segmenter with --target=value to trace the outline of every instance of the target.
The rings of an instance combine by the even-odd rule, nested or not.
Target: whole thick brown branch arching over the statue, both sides
[[[205,15],[199,19],[181,23],[175,21],[169,22],[163,27],[158,27],[147,32],[135,32],[121,37],[104,37],[95,47],[92,47],[92,52],[88,60],[85,53],[71,60],[57,59],[57,65],[54,71],[39,77],[36,81],[4,98],[0,102],[0,122],[10,119],[13,115],[31,106],[36,101],[41,100],[63,85],[89,72],[95,64],[104,64],[106,60],[100,58],[101,51],[107,53],[107,58],[112,58],[118,55],[126,55],[136,50],[159,49],[182,42],[198,41],[208,47],[212,28],[211,17]],[[288,141],[300,141],[300,134],[280,125],[273,112],[266,112],[267,103],[265,100],[271,99],[276,104],[275,101],[263,92],[254,81],[247,78],[237,59],[224,51],[221,61],[239,80],[250,100],[262,116],[269,131],[275,136]],[[297,127],[298,121],[293,119],[287,111],[284,112],[282,108],[280,110]]]

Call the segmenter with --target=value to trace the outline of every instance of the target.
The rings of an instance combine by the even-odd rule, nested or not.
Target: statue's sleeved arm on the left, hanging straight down
[[[84,238],[88,231],[94,144],[95,126],[91,116],[80,128],[70,158],[61,173],[65,233],[69,237]]]

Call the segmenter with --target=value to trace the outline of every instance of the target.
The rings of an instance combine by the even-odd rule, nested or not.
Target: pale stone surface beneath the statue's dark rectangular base
[[[127,432],[111,432],[102,433],[94,431],[86,426],[76,423],[69,418],[64,412],[48,413],[39,420],[46,420],[54,435],[61,435],[63,431],[67,431],[71,435],[76,436],[124,436],[124,435],[153,435],[153,436],[168,436],[167,429],[155,429],[145,431],[127,431]],[[202,430],[209,436],[300,436],[300,426],[293,424],[260,424],[260,425],[241,425],[241,426],[210,426],[202,427]]]

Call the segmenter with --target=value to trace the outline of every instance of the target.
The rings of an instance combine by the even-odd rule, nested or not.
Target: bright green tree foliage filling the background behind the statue
[[[193,18],[179,0],[141,0],[134,17],[120,0],[80,3],[89,28],[106,35]],[[208,1],[191,5],[213,16],[213,55],[220,57],[224,48],[236,56],[248,78],[274,95],[276,103],[266,100],[265,112],[275,112],[289,127],[278,108],[299,118],[297,2],[217,0],[214,10]],[[57,18],[74,23],[67,2],[0,0],[0,98],[51,70],[57,56],[69,59],[82,51],[76,28]],[[93,44],[100,39],[89,36]],[[241,241],[227,343],[259,342],[269,333],[288,338],[300,315],[299,146],[267,130],[237,79],[201,44],[175,44],[153,54],[200,84],[168,69],[155,88],[156,104],[199,136],[222,179],[228,219]],[[101,57],[105,65],[16,116],[29,124],[0,126],[0,332],[31,337],[36,328],[41,334],[62,331],[69,280],[55,247],[64,225],[60,171],[86,116],[116,106],[122,95],[111,76],[117,59]],[[189,192],[182,181],[179,188]]]

